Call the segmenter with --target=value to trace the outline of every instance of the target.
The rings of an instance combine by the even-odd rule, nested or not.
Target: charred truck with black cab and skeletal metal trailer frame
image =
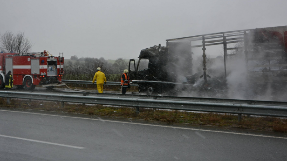
[[[193,41],[201,41],[201,44],[192,45]],[[249,80],[287,81],[287,26],[174,38],[166,40],[166,43],[167,47],[159,45],[141,50],[137,66],[135,59],[130,60],[129,76],[132,80],[138,80],[139,92],[164,93],[177,83],[192,84],[188,78],[193,75],[192,51],[196,47],[201,47],[203,53],[203,74],[200,77],[208,84],[207,78],[210,76],[207,74],[205,51],[207,46],[213,45],[223,45],[225,79],[226,62],[234,56],[228,54],[228,50],[241,49],[245,57],[245,64],[242,65],[247,67]],[[234,43],[241,43],[242,46],[227,46]],[[143,68],[141,62],[144,60],[148,60],[148,65]],[[186,82],[180,81],[183,77]]]

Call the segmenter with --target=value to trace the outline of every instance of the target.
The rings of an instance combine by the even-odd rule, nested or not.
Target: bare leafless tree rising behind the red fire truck
[[[30,52],[33,44],[28,38],[25,38],[24,32],[18,32],[14,35],[12,32],[7,31],[0,35],[0,49],[3,52],[26,53]]]

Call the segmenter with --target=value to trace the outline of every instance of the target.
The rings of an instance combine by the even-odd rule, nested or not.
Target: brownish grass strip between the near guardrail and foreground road
[[[135,108],[129,107],[65,103],[65,107],[61,108],[59,102],[38,100],[19,101],[17,99],[10,99],[10,104],[7,104],[6,100],[6,98],[0,98],[0,107],[69,112],[98,116],[156,120],[167,123],[189,123],[287,133],[287,119],[282,119],[279,117],[247,117],[243,115],[242,121],[238,123],[237,115],[234,114],[197,113],[185,111],[182,112],[178,110],[140,108],[140,114],[137,115]]]

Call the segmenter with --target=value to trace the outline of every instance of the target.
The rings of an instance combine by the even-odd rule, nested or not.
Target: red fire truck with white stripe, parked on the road
[[[64,86],[61,83],[64,74],[63,53],[59,56],[49,55],[48,51],[38,53],[1,53],[0,54],[0,88],[5,87],[5,73],[12,72],[13,85],[26,90],[42,85],[48,89]]]

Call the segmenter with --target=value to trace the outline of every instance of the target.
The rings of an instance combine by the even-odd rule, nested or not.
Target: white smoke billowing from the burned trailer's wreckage
[[[194,75],[198,79],[193,83],[193,86],[187,87],[185,90],[182,90],[182,86],[176,86],[175,89],[180,91],[178,96],[286,101],[286,82],[266,81],[266,78],[263,77],[264,75],[260,75],[259,77],[255,77],[252,74],[248,75],[247,73],[250,71],[258,71],[263,68],[257,69],[254,67],[248,69],[243,52],[243,50],[238,51],[236,57],[228,57],[226,60],[227,88],[221,86],[221,82],[225,81],[224,58],[219,56],[211,59],[207,56],[207,58],[211,59],[207,60],[207,75],[211,76],[211,78],[207,78],[207,82],[211,84],[217,82],[219,86],[216,86],[216,84],[212,86],[212,88],[216,88],[216,91],[211,91],[208,88],[203,90],[202,84],[204,83],[204,78],[199,78],[203,74],[202,57],[198,57],[197,60],[193,61],[195,62],[193,70],[197,72]],[[258,53],[258,55],[264,55],[264,53]],[[249,61],[248,65],[255,66],[262,64],[262,62],[264,63],[264,61]]]

